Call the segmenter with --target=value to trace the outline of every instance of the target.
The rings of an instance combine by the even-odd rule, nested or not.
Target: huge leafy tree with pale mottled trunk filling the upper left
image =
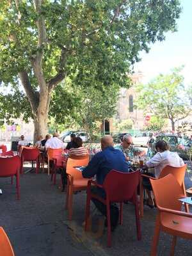
[[[1,0],[0,10],[0,80],[13,88],[5,100],[14,106],[26,94],[37,136],[63,79],[101,91],[129,86],[139,52],[175,31],[181,9],[179,0]],[[26,111],[14,108],[5,119]]]

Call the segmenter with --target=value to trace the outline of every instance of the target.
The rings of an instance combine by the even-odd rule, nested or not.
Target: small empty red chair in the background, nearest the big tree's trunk
[[[33,161],[35,161],[36,162],[35,172],[38,173],[38,170],[40,167],[39,156],[40,156],[40,152],[36,147],[22,148],[20,173],[23,173],[23,164],[25,161],[32,161],[32,164],[33,164]]]

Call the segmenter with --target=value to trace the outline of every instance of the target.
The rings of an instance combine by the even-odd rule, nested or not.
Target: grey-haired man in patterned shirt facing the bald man
[[[120,146],[116,146],[115,148],[121,150],[125,154],[127,161],[129,161],[131,157],[145,155],[145,150],[141,150],[140,148],[132,145],[132,137],[129,134],[125,134],[122,144]]]

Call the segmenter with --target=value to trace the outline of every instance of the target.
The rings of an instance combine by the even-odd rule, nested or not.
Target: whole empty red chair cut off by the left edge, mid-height
[[[16,177],[17,199],[20,199],[20,157],[0,157],[0,177]]]

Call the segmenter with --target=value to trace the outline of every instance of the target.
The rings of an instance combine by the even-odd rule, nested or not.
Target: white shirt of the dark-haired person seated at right
[[[157,152],[157,154],[147,161],[146,165],[155,168],[155,175],[159,177],[160,172],[163,170],[164,166],[170,165],[173,167],[180,167],[184,165],[184,161],[179,157],[177,152],[170,152],[166,150],[164,152]]]

